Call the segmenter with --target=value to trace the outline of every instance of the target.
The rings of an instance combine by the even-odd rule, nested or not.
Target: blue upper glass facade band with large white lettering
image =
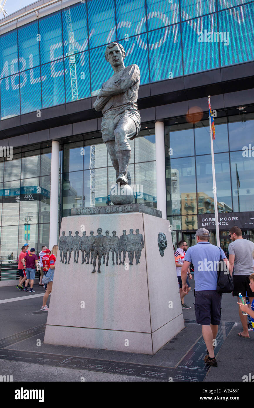
[[[253,21],[244,0],[78,2],[0,36],[1,119],[97,95],[111,41],[141,84],[254,60]]]

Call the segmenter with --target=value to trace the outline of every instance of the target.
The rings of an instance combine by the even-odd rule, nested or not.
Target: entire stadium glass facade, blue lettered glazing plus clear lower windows
[[[63,7],[0,35],[1,121],[27,113],[40,117],[40,110],[96,96],[112,75],[104,59],[111,41],[124,46],[126,66],[139,65],[141,85],[159,86],[168,79],[254,60],[253,1],[91,0]],[[198,215],[214,212],[208,120],[169,124],[174,115],[167,115],[167,218],[173,244],[186,239],[190,246]],[[139,186],[135,202],[157,208],[155,121],[143,125],[130,142],[130,177]],[[243,146],[254,146],[254,115],[224,112],[215,118],[215,130],[218,211],[254,214],[253,156],[243,156]],[[74,207],[110,205],[115,172],[101,133],[58,140],[58,222]],[[49,243],[50,174],[50,138],[18,145],[12,160],[0,157],[1,256],[17,255],[24,242],[36,251]],[[254,239],[252,227],[243,233]],[[215,243],[213,232],[211,239]],[[228,231],[221,228],[225,251],[229,242]]]

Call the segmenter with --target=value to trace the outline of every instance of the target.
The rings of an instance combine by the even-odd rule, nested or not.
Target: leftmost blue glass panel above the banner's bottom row
[[[0,36],[0,78],[18,72],[17,31]]]

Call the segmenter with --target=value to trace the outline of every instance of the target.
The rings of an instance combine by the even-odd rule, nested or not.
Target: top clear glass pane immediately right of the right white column
[[[170,156],[174,159],[176,157],[194,156],[193,128],[175,129],[179,128],[176,128],[176,126],[167,126],[165,128],[166,157]]]

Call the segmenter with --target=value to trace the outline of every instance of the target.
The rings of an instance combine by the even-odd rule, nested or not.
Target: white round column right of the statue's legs
[[[155,122],[157,209],[167,218],[164,123]]]

